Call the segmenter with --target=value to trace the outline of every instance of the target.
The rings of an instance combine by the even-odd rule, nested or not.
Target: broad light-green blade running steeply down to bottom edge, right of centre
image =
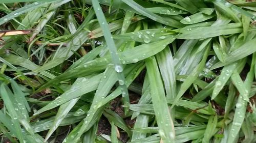
[[[146,60],[148,79],[151,87],[151,97],[156,119],[159,127],[159,134],[163,142],[174,142],[175,131],[172,118],[168,109],[164,88],[154,57]]]

